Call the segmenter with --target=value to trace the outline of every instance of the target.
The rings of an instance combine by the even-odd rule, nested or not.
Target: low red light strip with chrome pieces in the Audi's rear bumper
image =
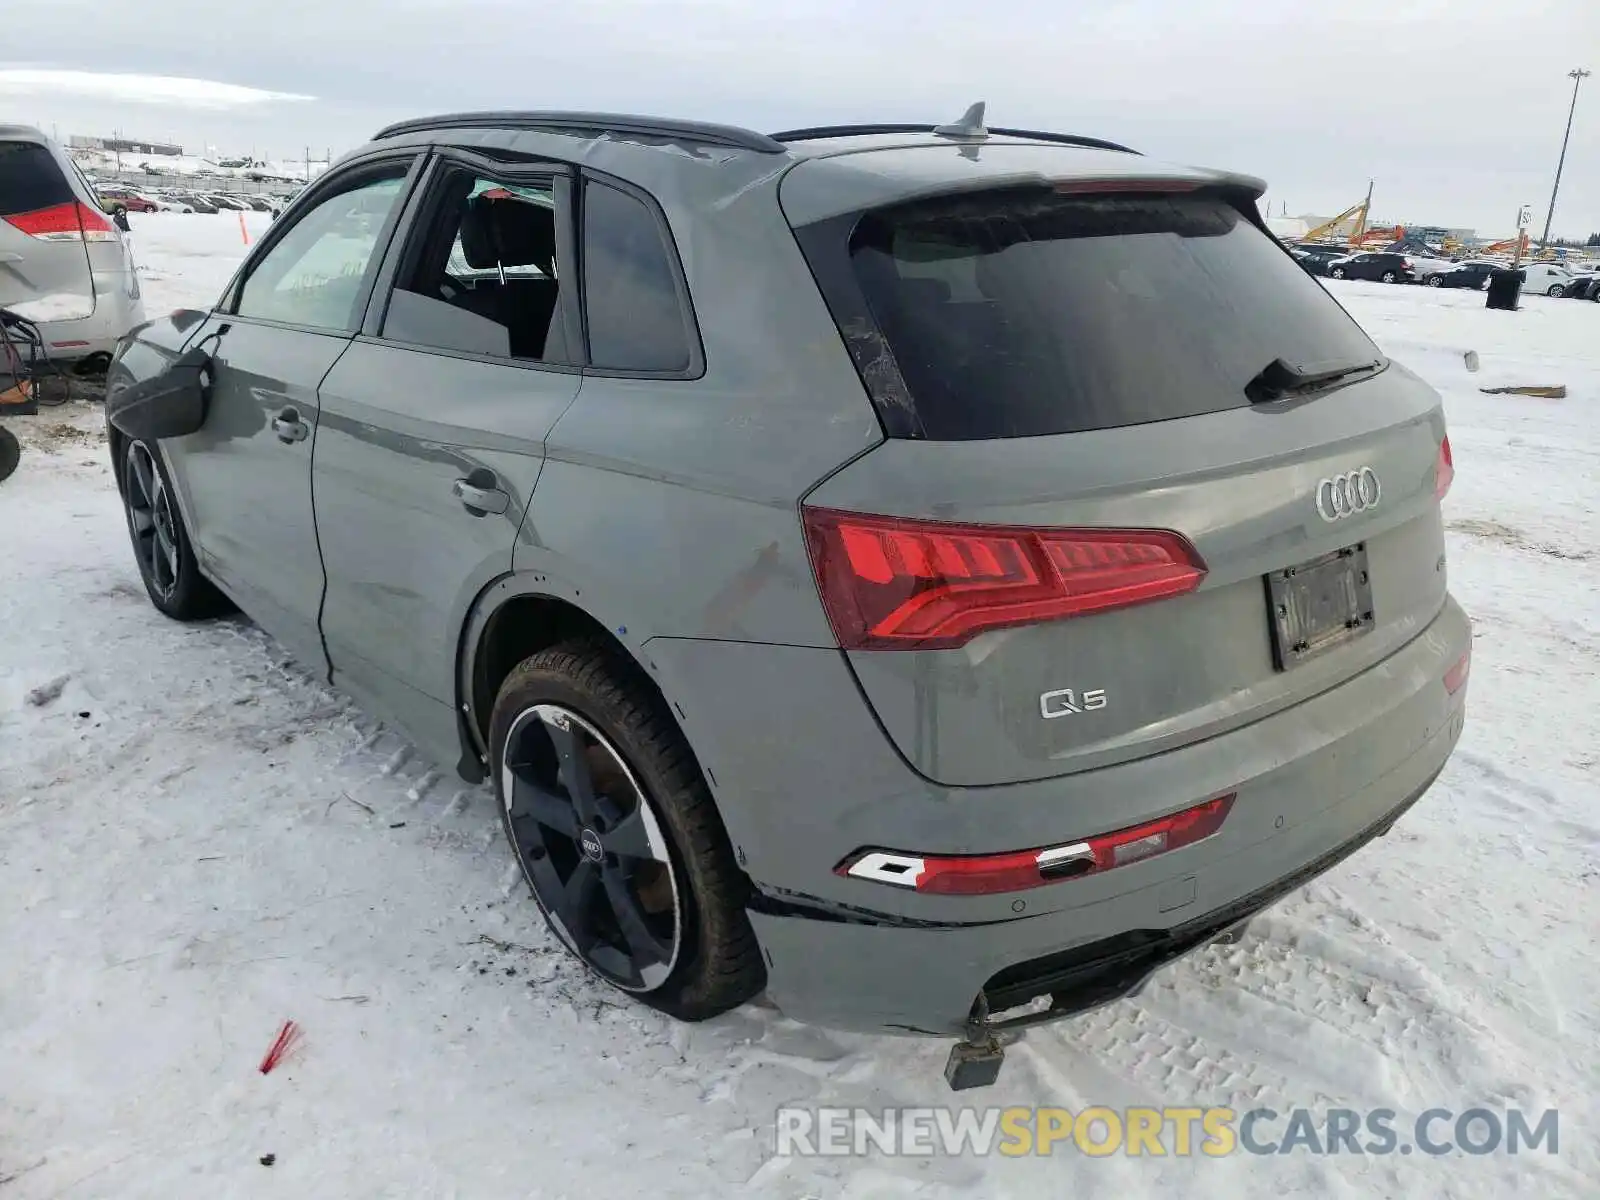
[[[1141,862],[1211,837],[1222,827],[1232,795],[1219,795],[1181,813],[1141,826],[1043,850],[1006,854],[901,854],[890,850],[858,851],[834,870],[848,878],[888,883],[938,896],[987,896],[1026,891],[1046,883],[1099,875]]]

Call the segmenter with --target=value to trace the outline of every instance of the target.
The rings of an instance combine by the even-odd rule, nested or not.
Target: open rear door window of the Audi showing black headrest
[[[454,170],[413,234],[382,336],[443,350],[568,362],[555,192]]]

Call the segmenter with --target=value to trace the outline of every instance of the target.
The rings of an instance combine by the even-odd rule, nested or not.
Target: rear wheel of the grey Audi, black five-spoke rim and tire
[[[534,902],[594,974],[682,1021],[762,990],[749,885],[688,742],[626,654],[582,637],[525,659],[494,699],[490,755],[501,826]],[[587,789],[566,782],[574,758]],[[640,926],[645,938],[629,931]],[[635,954],[640,942],[648,952]]]

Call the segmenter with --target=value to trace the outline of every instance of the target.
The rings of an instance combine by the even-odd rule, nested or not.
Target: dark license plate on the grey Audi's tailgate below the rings
[[[1278,670],[1325,654],[1373,627],[1366,544],[1286,566],[1267,576],[1272,659]]]

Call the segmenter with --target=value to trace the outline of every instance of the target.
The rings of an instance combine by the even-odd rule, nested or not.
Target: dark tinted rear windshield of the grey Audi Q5
[[[982,194],[867,213],[853,275],[914,435],[1110,429],[1248,405],[1277,358],[1370,362],[1360,326],[1224,198]]]

